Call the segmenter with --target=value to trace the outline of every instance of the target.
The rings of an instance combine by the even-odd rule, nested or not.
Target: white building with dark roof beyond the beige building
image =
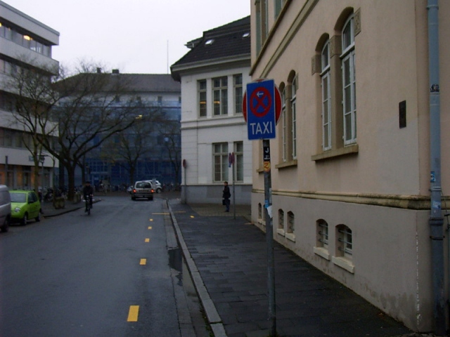
[[[182,199],[250,204],[252,148],[242,100],[250,81],[250,17],[203,32],[171,67],[181,82]]]

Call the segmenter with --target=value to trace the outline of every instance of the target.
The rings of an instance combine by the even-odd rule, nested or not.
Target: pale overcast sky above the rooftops
[[[251,0],[3,0],[60,33],[52,57],[124,73],[167,74],[186,42],[250,15]]]

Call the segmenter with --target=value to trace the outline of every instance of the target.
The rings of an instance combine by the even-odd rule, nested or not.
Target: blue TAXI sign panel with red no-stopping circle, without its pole
[[[275,126],[281,114],[281,94],[273,79],[247,84],[243,113],[249,140],[276,138]]]

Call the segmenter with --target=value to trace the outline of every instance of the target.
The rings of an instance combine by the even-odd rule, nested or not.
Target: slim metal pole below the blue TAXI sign
[[[275,268],[274,268],[274,225],[272,221],[272,180],[270,167],[270,140],[262,140],[264,160],[264,212],[266,218],[266,250],[267,250],[267,289],[269,292],[269,320],[271,333],[276,337],[275,311]]]

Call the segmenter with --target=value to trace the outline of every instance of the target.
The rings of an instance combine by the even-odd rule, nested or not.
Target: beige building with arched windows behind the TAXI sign
[[[428,72],[427,6],[257,0],[251,7],[250,74],[274,79],[283,102],[270,141],[274,238],[415,331],[435,329],[430,91],[437,91]],[[438,13],[445,93],[450,1],[439,1]],[[450,95],[440,95],[440,119],[444,213]],[[264,229],[262,141],[252,146],[252,220]],[[440,258],[448,270],[445,230],[446,223]]]

